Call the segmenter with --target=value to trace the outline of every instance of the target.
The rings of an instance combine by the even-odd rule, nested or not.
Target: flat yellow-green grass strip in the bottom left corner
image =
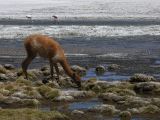
[[[68,120],[57,111],[42,112],[36,109],[0,109],[0,120]]]

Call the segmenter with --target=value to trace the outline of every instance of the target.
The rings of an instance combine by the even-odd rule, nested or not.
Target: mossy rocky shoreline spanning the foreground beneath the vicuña
[[[86,69],[80,66],[72,66],[72,69],[81,75],[86,72]],[[108,70],[114,69],[119,69],[118,65],[108,67]],[[103,71],[104,68],[98,66],[96,70]],[[49,114],[57,113],[56,119],[74,119],[79,115],[83,119],[85,114],[101,114],[110,117],[119,116],[122,120],[130,120],[135,115],[155,115],[158,117],[160,113],[160,83],[152,76],[135,74],[130,80],[116,82],[99,81],[96,78],[91,78],[82,81],[82,88],[78,90],[76,84],[72,83],[71,78],[65,75],[61,67],[58,82],[56,75],[54,75],[55,80],[50,79],[48,66],[41,69],[30,69],[28,73],[29,80],[26,80],[21,69],[10,64],[0,65],[0,113],[4,112],[4,116],[0,117],[2,120],[8,112],[12,113],[9,120],[12,119],[11,117],[15,116],[15,111],[18,112],[21,109],[24,114],[26,113],[24,116],[30,115],[27,112],[28,109],[35,114],[44,114],[43,111],[35,110],[44,101],[64,104],[92,98],[98,98],[103,103],[84,110],[68,110],[68,113],[63,113],[66,115],[48,111],[46,117],[51,119],[53,116]],[[42,80],[49,82],[43,84]],[[14,107],[11,106],[16,106],[18,109],[13,109]],[[36,115],[33,114],[33,116]],[[43,117],[45,118],[45,116]]]

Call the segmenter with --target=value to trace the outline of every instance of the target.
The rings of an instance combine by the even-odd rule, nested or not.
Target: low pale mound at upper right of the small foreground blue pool
[[[125,98],[123,96],[119,96],[114,93],[103,93],[99,97],[102,98],[103,100],[109,101],[109,102],[118,102],[118,101],[125,100]]]

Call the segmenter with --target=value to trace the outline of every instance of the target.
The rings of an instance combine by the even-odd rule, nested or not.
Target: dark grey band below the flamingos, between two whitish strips
[[[159,18],[58,18],[58,19],[12,19],[1,18],[0,25],[160,25]]]

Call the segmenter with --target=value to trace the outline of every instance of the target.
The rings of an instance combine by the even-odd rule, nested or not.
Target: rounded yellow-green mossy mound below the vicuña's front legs
[[[58,89],[51,88],[47,85],[42,85],[38,87],[38,91],[40,92],[42,96],[44,96],[45,98],[49,100],[53,100],[55,97],[59,95]]]

